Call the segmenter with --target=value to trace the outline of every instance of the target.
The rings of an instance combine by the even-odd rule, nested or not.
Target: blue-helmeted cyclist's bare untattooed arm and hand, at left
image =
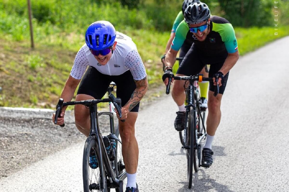
[[[81,79],[75,79],[69,75],[68,79],[66,80],[65,86],[62,90],[60,98],[64,100],[64,102],[71,101],[73,98],[75,89],[77,88],[77,85],[79,84]],[[62,112],[60,116],[61,118],[58,118],[57,125],[62,125],[64,123],[64,112],[66,110],[67,106],[62,108]],[[55,119],[55,113],[52,116],[52,120],[54,122]]]

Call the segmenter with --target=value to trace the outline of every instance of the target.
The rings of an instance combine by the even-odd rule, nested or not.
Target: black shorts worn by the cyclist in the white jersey
[[[116,84],[116,97],[121,98],[121,106],[123,107],[127,101],[129,101],[132,93],[136,89],[136,83],[128,70],[121,75],[110,76],[99,72],[94,67],[89,66],[86,73],[84,74],[78,91],[78,94],[86,94],[94,97],[95,99],[101,99],[108,90],[110,82]],[[131,112],[138,112],[140,103],[138,103]]]

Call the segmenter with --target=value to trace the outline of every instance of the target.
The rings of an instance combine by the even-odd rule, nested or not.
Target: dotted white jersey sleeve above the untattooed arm
[[[81,79],[87,66],[88,59],[86,57],[84,49],[81,48],[75,56],[74,64],[70,71],[70,76],[75,79]]]

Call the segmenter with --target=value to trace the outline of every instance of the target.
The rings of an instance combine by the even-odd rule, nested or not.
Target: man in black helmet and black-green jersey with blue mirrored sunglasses
[[[168,74],[172,71],[177,52],[185,39],[193,44],[184,57],[176,76],[198,74],[205,64],[210,64],[209,77],[219,76],[218,82],[211,83],[208,94],[207,139],[203,148],[202,166],[210,167],[213,163],[212,141],[221,120],[221,99],[227,84],[229,70],[239,59],[238,45],[234,29],[228,20],[210,16],[205,3],[196,2],[189,5],[184,12],[185,20],[177,27],[176,35],[165,58],[166,70],[163,81],[168,84]],[[184,105],[184,81],[173,81],[172,96],[178,106]],[[214,86],[220,86],[216,97]],[[177,112],[175,127],[184,129],[185,112]]]

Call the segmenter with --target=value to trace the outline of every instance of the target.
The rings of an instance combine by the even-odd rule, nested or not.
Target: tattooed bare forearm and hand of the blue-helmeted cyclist
[[[147,93],[147,89],[149,87],[149,83],[147,81],[147,76],[141,80],[134,80],[136,82],[136,89],[131,94],[131,97],[129,101],[121,108],[122,118],[125,119],[127,116],[127,113],[134,108],[138,102],[144,97],[144,95]],[[117,114],[118,116],[118,114]],[[119,116],[118,116],[119,117]]]

